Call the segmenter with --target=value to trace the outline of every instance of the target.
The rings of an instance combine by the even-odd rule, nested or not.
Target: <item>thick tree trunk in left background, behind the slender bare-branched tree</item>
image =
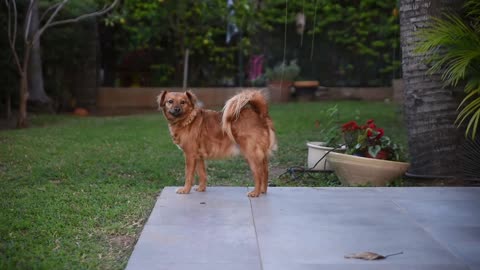
[[[29,40],[32,40],[33,35],[39,28],[38,2],[39,1],[34,1],[32,8],[32,22],[29,31]],[[45,93],[45,88],[43,86],[40,40],[34,42],[32,46],[30,62],[28,65],[28,100],[33,103],[48,104],[51,100]]]

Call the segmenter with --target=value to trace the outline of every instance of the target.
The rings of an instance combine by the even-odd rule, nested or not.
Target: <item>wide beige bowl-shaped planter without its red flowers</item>
[[[342,184],[385,186],[402,176],[410,166],[406,162],[365,158],[332,152],[328,162]]]

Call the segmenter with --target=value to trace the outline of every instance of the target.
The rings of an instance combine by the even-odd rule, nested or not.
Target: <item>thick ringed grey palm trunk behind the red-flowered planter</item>
[[[417,31],[430,16],[458,10],[459,0],[400,0],[402,68],[405,82],[405,121],[411,167],[418,176],[457,176],[460,168],[457,152],[462,132],[454,125],[459,101],[453,89],[444,88],[440,74],[428,75],[423,57],[415,54]]]

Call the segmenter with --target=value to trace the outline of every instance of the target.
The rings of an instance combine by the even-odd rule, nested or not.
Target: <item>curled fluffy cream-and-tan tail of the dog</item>
[[[271,153],[272,151],[275,151],[277,148],[275,131],[273,129],[272,120],[268,116],[267,100],[262,91],[245,90],[233,96],[225,103],[222,116],[223,131],[232,141],[235,141],[232,133],[232,123],[238,119],[240,112],[247,105],[250,105],[251,108],[258,113],[260,118],[266,120],[270,139],[269,152]]]

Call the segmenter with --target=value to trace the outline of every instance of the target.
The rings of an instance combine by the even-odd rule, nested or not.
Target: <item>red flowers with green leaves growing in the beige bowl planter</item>
[[[365,125],[350,121],[342,125],[347,153],[362,157],[399,160],[400,147],[385,136],[383,128],[370,119]]]

